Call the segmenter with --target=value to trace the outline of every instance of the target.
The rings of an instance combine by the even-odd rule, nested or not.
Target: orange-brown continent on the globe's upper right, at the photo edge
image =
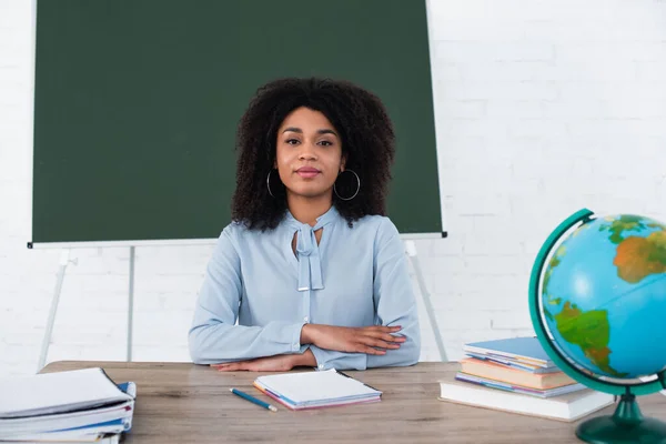
[[[632,284],[650,274],[666,272],[666,231],[623,240],[617,245],[613,264],[617,266],[617,275]]]

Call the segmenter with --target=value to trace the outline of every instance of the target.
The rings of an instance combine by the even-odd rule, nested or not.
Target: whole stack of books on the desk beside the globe
[[[463,404],[575,421],[613,404],[614,396],[577,383],[536,337],[465,344],[454,381],[440,381],[441,398]]]

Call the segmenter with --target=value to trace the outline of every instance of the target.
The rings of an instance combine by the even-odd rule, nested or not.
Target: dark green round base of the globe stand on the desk
[[[613,415],[584,421],[576,428],[576,436],[594,444],[664,443],[666,423],[643,417],[636,395],[627,389]]]

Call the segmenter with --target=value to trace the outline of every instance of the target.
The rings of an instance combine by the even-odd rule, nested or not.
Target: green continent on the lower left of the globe
[[[585,356],[589,359],[604,373],[624,377],[627,373],[619,373],[610,366],[608,341],[610,340],[610,324],[606,310],[582,311],[565,302],[562,311],[555,316],[555,325],[562,337],[569,344],[578,345]]]

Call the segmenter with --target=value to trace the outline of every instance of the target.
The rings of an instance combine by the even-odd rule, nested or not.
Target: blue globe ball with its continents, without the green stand
[[[542,287],[556,346],[615,379],[666,369],[666,224],[620,214],[593,219],[561,243]]]

